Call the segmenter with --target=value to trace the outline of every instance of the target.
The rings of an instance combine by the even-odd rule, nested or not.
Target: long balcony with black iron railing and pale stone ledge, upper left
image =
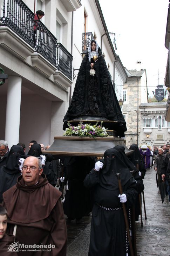
[[[37,30],[34,32],[35,24]],[[57,43],[57,39],[40,20],[34,20],[34,13],[22,0],[3,1],[0,45],[22,61],[31,56],[33,68],[46,77],[60,71],[63,77],[68,78],[67,83],[72,80],[73,56],[61,43]]]

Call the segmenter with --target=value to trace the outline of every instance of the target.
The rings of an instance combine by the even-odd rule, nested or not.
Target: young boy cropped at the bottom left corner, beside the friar
[[[17,252],[14,251],[15,236],[6,234],[6,229],[7,211],[0,205],[0,254],[1,256],[17,256]],[[9,249],[13,250],[9,251]]]

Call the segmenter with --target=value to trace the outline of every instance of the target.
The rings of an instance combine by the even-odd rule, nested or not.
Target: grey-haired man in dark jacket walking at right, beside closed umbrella
[[[155,161],[154,161],[154,169],[155,171],[157,171],[157,174],[158,174],[158,184],[162,182],[161,167],[165,157],[166,157],[166,154],[163,153],[163,149],[158,148],[158,154],[155,155]]]

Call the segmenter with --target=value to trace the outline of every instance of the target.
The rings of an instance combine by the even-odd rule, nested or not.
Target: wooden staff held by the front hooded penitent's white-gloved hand
[[[122,184],[121,184],[121,179],[120,179],[120,173],[114,173],[114,174],[117,176],[119,191],[120,191],[120,194],[122,195],[123,194],[123,190],[122,190]],[[129,231],[128,216],[127,216],[126,207],[125,207],[124,203],[122,203],[122,207],[123,207],[123,214],[124,214],[126,230],[127,230],[127,234],[128,234],[129,247],[130,247],[130,255],[134,256],[134,251],[133,251],[133,248],[132,248],[132,241],[131,241],[130,231]]]

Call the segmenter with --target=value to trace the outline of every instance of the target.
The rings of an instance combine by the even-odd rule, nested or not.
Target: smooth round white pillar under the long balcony
[[[9,149],[19,142],[21,83],[21,77],[8,78],[5,140],[8,142]]]

